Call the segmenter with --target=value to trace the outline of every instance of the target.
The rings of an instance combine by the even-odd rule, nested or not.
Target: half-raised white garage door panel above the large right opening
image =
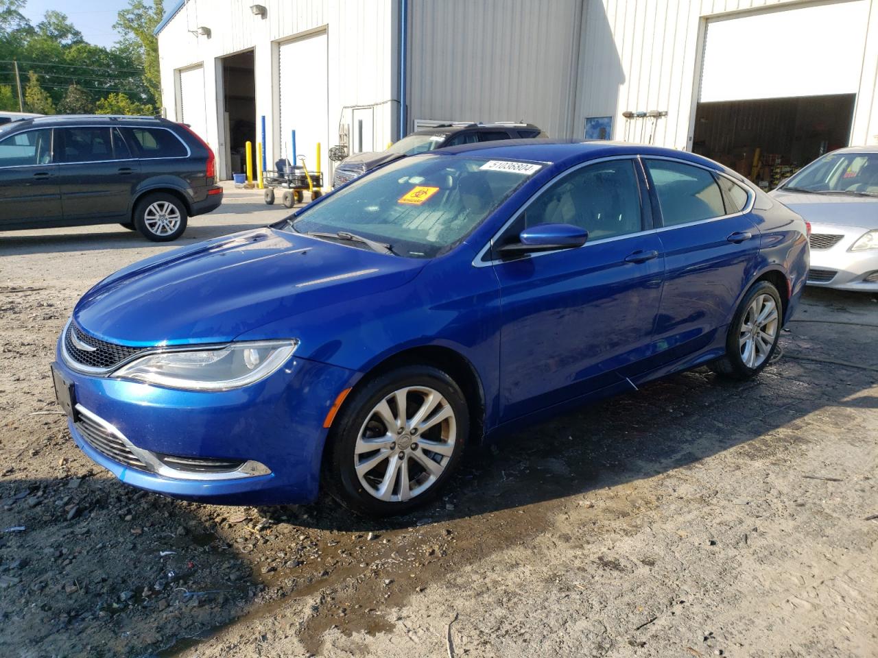
[[[868,0],[713,20],[698,100],[855,94]]]

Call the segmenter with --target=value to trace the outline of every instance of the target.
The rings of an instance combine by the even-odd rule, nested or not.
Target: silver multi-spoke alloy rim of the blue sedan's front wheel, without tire
[[[456,439],[457,419],[441,393],[426,386],[395,390],[375,405],[360,428],[356,476],[372,497],[405,502],[442,476]]]

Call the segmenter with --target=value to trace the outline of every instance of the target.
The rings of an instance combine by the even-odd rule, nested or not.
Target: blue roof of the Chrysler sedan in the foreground
[[[723,165],[688,151],[652,147],[646,144],[608,141],[605,139],[590,141],[575,139],[506,139],[503,141],[466,144],[459,147],[447,147],[430,151],[429,153],[436,155],[472,154],[485,158],[498,158],[500,160],[527,160],[565,165],[595,160],[597,158],[612,157],[614,155],[653,155],[689,161],[702,167],[725,171]]]

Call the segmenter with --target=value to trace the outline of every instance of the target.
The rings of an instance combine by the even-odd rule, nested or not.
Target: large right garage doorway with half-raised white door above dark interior
[[[849,146],[868,10],[850,0],[710,19],[692,150],[771,190]]]

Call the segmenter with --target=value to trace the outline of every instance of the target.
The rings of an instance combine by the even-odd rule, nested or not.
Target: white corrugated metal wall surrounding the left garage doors
[[[395,137],[397,97],[398,0],[260,0],[266,18],[254,16],[251,0],[189,0],[159,33],[162,97],[169,118],[178,118],[178,71],[194,64],[205,67],[207,113],[206,139],[224,170],[225,144],[221,130],[221,61],[228,55],[254,49],[256,117],[266,117],[268,161],[280,157],[278,131],[277,47],[286,39],[311,30],[327,30],[327,80],[310,75],[302,62],[296,89],[300,102],[313,93],[328,94],[329,132],[335,145],[340,123],[350,121],[349,106],[375,104],[376,147],[384,148]],[[211,36],[191,31],[210,28]],[[306,154],[311,167],[313,154]],[[327,168],[324,166],[324,168]]]

